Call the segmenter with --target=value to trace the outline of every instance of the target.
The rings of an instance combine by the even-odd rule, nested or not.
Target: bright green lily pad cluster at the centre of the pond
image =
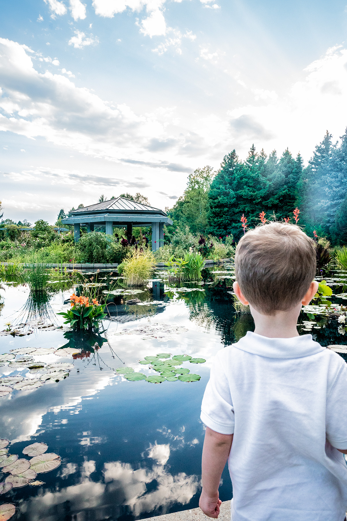
[[[162,383],[164,381],[175,382],[197,382],[201,376],[191,374],[186,367],[179,367],[183,362],[191,364],[203,364],[204,358],[192,358],[189,355],[175,355],[172,358],[170,353],[159,353],[154,356],[145,356],[144,360],[140,360],[139,364],[149,365],[150,369],[157,371],[158,375],[146,376],[144,373],[135,373],[132,367],[120,367],[117,373],[122,375],[129,381],[135,382],[146,380],[149,383]]]

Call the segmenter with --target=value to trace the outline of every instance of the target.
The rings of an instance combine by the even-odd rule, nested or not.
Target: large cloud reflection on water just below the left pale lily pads
[[[113,375],[112,375],[113,376]],[[0,406],[0,432],[3,438],[12,443],[28,441],[42,423],[42,417],[52,411],[68,411],[78,414],[81,410],[82,396],[94,395],[104,389],[112,376],[106,377],[90,371],[88,375],[70,374],[59,383],[45,383],[33,391],[14,391],[10,400]],[[14,417],[14,410],[16,415]],[[61,420],[61,423],[67,420]]]

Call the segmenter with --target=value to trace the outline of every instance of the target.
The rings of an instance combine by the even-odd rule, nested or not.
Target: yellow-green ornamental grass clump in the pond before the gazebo
[[[155,257],[150,250],[133,250],[126,254],[122,263],[122,274],[128,286],[142,286],[150,278]]]

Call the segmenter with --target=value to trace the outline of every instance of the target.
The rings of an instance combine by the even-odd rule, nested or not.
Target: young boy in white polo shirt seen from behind
[[[347,364],[299,336],[317,291],[316,252],[299,227],[247,232],[234,291],[254,333],[215,357],[201,406],[201,510],[218,517],[228,460],[232,521],[343,521],[347,507]]]

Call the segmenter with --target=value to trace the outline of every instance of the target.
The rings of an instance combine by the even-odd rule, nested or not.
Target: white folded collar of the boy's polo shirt
[[[312,339],[312,334],[293,338],[268,338],[252,331],[247,331],[246,336],[233,345],[242,351],[268,358],[301,358],[326,349]]]

